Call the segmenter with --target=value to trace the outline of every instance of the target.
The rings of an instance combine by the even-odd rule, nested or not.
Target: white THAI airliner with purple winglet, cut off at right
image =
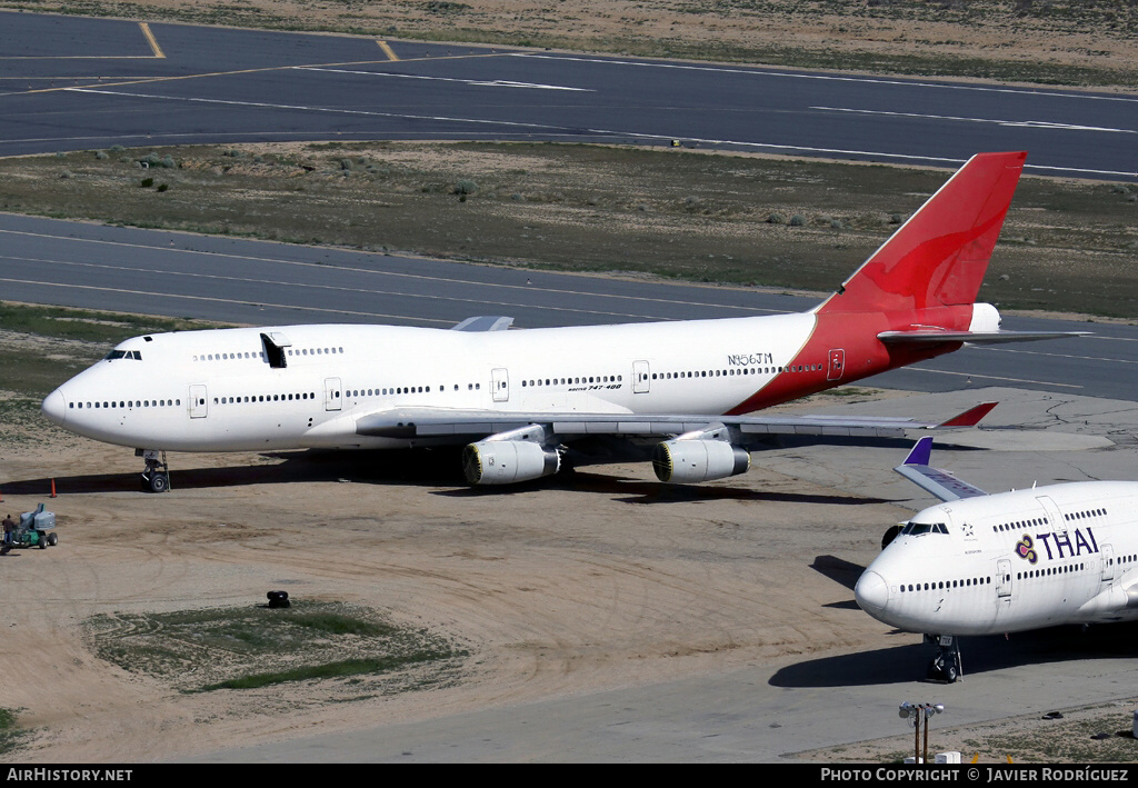
[[[931,450],[921,438],[894,470],[945,503],[887,532],[853,588],[877,621],[939,643],[930,679],[962,675],[962,635],[1138,618],[1138,483],[989,495],[930,467]]]

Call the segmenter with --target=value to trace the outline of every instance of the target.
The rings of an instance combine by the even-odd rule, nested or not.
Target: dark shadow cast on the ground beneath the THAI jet
[[[787,665],[770,678],[773,687],[860,687],[924,681],[937,647],[921,635],[905,634],[905,646],[810,659]],[[1086,659],[1138,656],[1138,624],[1102,624],[1088,627],[1054,626],[1004,635],[963,638],[964,679],[1012,667]]]

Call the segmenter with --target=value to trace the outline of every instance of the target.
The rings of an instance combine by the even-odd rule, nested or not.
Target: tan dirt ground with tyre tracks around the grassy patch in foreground
[[[174,758],[866,648],[882,626],[810,565],[864,565],[908,511],[764,469],[673,489],[646,463],[604,466],[484,493],[374,454],[171,459],[173,490],[154,495],[127,449],[0,451],[0,508],[47,503],[60,539],[0,558],[5,650],[22,665],[0,706],[32,730],[22,762]],[[354,700],[337,680],[188,695],[84,635],[99,614],[264,605],[278,588],[469,656],[439,686]]]

